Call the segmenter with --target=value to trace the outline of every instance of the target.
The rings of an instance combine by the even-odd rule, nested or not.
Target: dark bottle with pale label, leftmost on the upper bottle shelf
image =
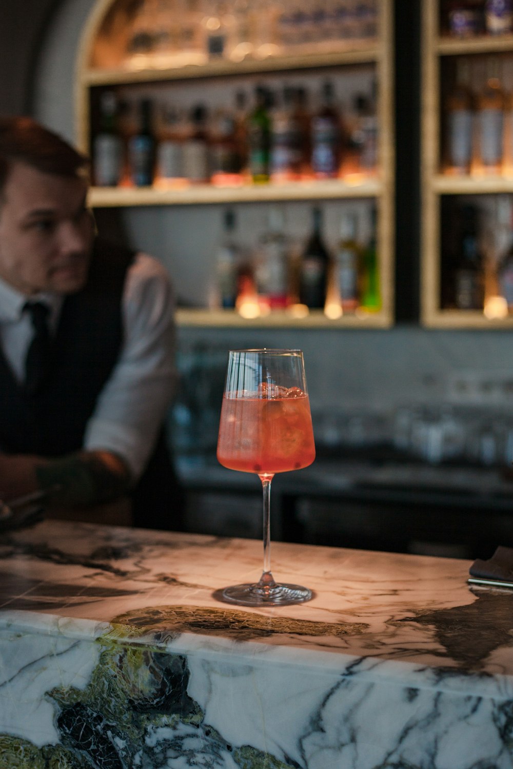
[[[116,122],[118,102],[115,93],[104,91],[100,101],[100,131],[93,144],[93,177],[100,187],[115,187],[122,178],[123,142]]]

